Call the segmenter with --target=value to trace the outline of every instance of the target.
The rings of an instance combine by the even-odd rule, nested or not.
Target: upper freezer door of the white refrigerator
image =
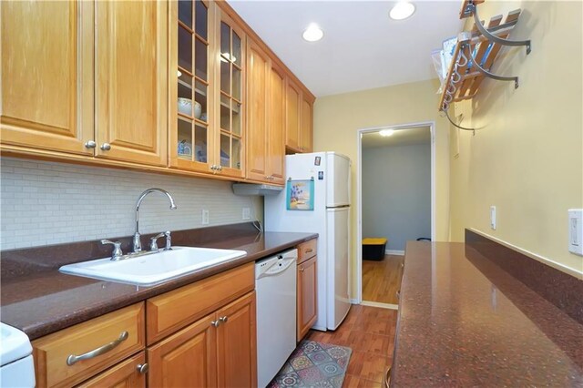
[[[326,152],[326,207],[350,205],[350,158]]]

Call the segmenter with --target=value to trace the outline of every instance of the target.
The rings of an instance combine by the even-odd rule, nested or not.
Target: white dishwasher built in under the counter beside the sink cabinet
[[[296,262],[287,250],[255,263],[257,384],[265,387],[295,349]]]

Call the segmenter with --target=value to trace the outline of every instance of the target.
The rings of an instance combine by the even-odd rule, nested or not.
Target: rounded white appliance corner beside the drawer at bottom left
[[[0,387],[35,386],[33,348],[24,332],[0,323]]]

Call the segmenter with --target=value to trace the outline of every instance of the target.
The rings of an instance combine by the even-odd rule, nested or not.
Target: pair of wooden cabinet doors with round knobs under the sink
[[[148,386],[255,386],[255,326],[251,291],[148,347]]]

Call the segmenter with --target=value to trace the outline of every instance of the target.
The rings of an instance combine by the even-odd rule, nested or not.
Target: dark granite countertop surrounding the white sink
[[[196,230],[190,232],[193,235],[197,233]],[[245,250],[247,256],[151,287],[97,281],[58,271],[65,263],[92,259],[83,255],[107,257],[103,254],[105,250],[97,248],[95,242],[64,245],[60,250],[54,246],[5,251],[2,252],[0,318],[2,322],[26,332],[31,340],[35,340],[109,311],[270,256],[317,236],[314,233],[258,233],[247,226],[239,230],[210,228],[202,237],[192,237],[189,231],[176,232],[173,234],[173,245]],[[147,238],[143,237],[144,240]],[[121,240],[124,242],[124,251],[128,251],[130,239]],[[62,254],[56,254],[58,251]],[[66,256],[67,260],[61,256]],[[71,260],[76,257],[77,260]]]

